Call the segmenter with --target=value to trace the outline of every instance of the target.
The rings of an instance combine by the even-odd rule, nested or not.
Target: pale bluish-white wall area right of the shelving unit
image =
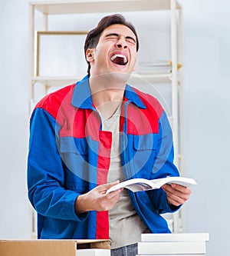
[[[208,255],[228,255],[230,2],[182,4],[186,174],[199,183],[186,204],[186,231],[209,232]]]

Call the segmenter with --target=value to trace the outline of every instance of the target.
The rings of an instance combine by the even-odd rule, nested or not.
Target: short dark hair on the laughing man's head
[[[84,42],[84,55],[86,57],[86,52],[88,48],[96,48],[97,43],[99,41],[101,33],[104,31],[105,28],[109,27],[110,25],[114,24],[120,24],[120,25],[125,25],[126,27],[130,28],[134,35],[136,36],[136,52],[139,49],[139,42],[138,42],[138,37],[136,34],[136,29],[134,26],[130,23],[127,22],[126,19],[120,15],[120,14],[115,14],[115,15],[109,15],[100,20],[100,22],[97,24],[97,27],[92,29],[88,34],[87,38],[85,39]],[[90,75],[90,63],[88,63],[88,75]]]

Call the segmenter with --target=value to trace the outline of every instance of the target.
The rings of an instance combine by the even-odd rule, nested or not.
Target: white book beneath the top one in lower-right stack
[[[205,241],[138,242],[138,254],[205,254]]]

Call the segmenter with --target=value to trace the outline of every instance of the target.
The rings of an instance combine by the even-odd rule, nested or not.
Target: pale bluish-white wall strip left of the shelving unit
[[[28,1],[0,1],[0,239],[29,238]]]

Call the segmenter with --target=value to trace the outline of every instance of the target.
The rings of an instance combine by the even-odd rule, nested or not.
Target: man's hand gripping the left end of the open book
[[[115,181],[99,185],[86,194],[79,195],[75,202],[76,214],[81,214],[85,211],[109,211],[119,201],[123,188],[109,194],[106,194],[106,192],[110,187],[118,183],[119,181]]]

